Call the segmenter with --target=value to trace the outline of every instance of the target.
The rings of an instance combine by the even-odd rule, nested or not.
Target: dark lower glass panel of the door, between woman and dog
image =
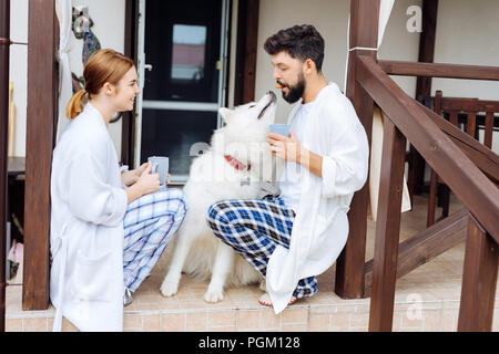
[[[207,147],[217,112],[143,110],[141,163],[169,156],[170,174],[189,175],[191,162]]]

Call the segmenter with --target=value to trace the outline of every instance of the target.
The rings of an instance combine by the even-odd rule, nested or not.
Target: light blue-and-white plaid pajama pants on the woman
[[[135,291],[149,275],[176,230],[187,207],[181,189],[161,187],[126,208],[123,219],[124,287]]]

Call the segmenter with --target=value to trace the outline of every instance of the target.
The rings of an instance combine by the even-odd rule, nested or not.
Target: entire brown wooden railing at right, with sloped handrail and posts
[[[431,66],[434,65],[434,66]],[[447,65],[444,65],[448,67]],[[455,230],[466,227],[467,243],[462,275],[458,331],[490,331],[498,273],[499,242],[499,158],[466,133],[446,122],[409,97],[388,76],[438,75],[444,77],[499,80],[497,67],[462,67],[444,73],[439,64],[405,63],[379,65],[368,55],[357,56],[357,83],[384,111],[384,145],[381,184],[376,222],[375,256],[366,264],[366,285],[370,287],[369,331],[390,331],[397,275],[411,267],[398,269],[400,260],[417,262],[414,253],[399,254],[400,205],[406,155],[406,138],[440,175],[465,205],[466,211],[455,215]],[[385,69],[385,70],[384,70]],[[446,69],[447,70],[447,69]],[[470,71],[471,70],[471,74]],[[468,74],[466,72],[468,71]],[[449,223],[450,225],[450,223]],[[430,232],[429,236],[434,236]],[[451,237],[451,232],[445,233]],[[425,237],[421,235],[420,238]],[[430,239],[426,236],[427,239]],[[411,240],[407,243],[413,242]],[[411,249],[403,243],[401,250]],[[409,256],[408,256],[409,254]],[[405,258],[404,258],[405,257]],[[369,270],[370,268],[370,270]]]

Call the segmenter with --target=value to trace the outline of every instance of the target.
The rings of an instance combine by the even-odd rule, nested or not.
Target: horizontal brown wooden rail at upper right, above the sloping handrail
[[[498,66],[457,65],[380,60],[389,75],[499,81]]]

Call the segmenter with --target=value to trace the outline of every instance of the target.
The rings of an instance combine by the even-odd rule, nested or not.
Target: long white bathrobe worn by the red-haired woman
[[[53,330],[60,331],[64,315],[81,331],[122,331],[128,196],[115,147],[91,104],[53,152],[51,201]]]

